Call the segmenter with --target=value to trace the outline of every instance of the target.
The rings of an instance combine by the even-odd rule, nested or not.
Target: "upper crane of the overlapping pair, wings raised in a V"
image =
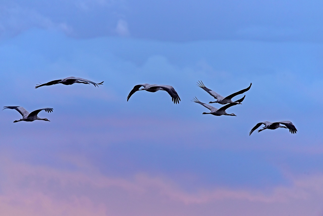
[[[211,96],[213,96],[216,101],[212,102],[210,101],[209,104],[212,104],[212,103],[219,103],[219,104],[228,104],[228,103],[238,103],[238,104],[241,104],[241,102],[245,99],[245,96],[237,101],[232,101],[231,99],[234,97],[234,96],[237,96],[237,95],[240,95],[242,93],[245,93],[246,91],[248,91],[251,87],[252,83],[250,83],[249,87],[248,88],[245,88],[245,89],[242,89],[241,91],[238,91],[236,93],[233,93],[227,97],[223,97],[221,95],[219,95],[218,93],[216,93],[215,91],[212,91],[211,89],[208,89],[207,87],[205,87],[205,85],[203,84],[202,81],[199,81],[197,83],[197,86],[203,88],[207,93],[209,93]]]

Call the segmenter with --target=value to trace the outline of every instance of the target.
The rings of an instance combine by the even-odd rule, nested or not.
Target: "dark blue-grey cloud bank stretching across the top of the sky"
[[[22,0],[0,3],[0,36],[29,28],[73,38],[131,36],[163,41],[322,42],[322,2]]]

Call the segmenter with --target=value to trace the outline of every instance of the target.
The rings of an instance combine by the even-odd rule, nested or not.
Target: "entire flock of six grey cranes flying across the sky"
[[[95,87],[97,87],[99,85],[103,85],[102,84],[103,82],[95,83],[95,82],[92,82],[87,79],[71,76],[71,77],[67,77],[64,79],[53,80],[53,81],[50,81],[45,84],[40,84],[40,85],[37,84],[35,86],[35,88],[39,88],[39,87],[45,86],[45,85],[55,85],[55,84],[59,84],[59,83],[64,84],[64,85],[72,85],[74,83],[93,84]],[[219,104],[222,104],[225,106],[218,109],[218,108],[215,108],[209,104],[205,104],[205,103],[199,101],[196,97],[192,99],[192,102],[201,104],[203,107],[208,108],[211,111],[211,112],[203,112],[202,114],[212,114],[214,116],[222,116],[222,115],[236,116],[234,113],[228,114],[225,110],[229,107],[235,106],[237,104],[241,104],[241,102],[245,99],[245,96],[239,100],[236,100],[236,101],[232,101],[232,98],[248,91],[250,89],[251,85],[252,85],[252,83],[250,83],[249,87],[247,87],[245,89],[235,92],[227,97],[223,97],[223,96],[219,95],[218,93],[216,93],[215,91],[212,91],[211,89],[207,88],[203,84],[202,81],[199,81],[199,82],[197,82],[197,86],[201,87],[203,90],[205,90],[207,93],[209,93],[212,97],[214,97],[216,99],[216,101],[214,101],[214,102],[210,101],[209,104],[219,103]],[[141,88],[141,87],[143,87],[143,88]],[[147,84],[147,83],[135,85],[133,87],[133,89],[130,91],[130,93],[127,97],[127,101],[135,92],[141,91],[141,90],[146,90],[148,92],[156,92],[159,90],[163,90],[163,91],[166,91],[172,97],[172,101],[174,102],[174,104],[177,104],[181,101],[177,92],[175,91],[175,89],[171,85],[151,85],[151,84]],[[37,109],[37,110],[29,113],[25,108],[17,107],[17,106],[7,106],[7,107],[4,107],[4,109],[16,109],[22,115],[21,119],[16,120],[14,122],[34,121],[34,120],[49,121],[46,118],[41,119],[37,115],[42,110],[45,110],[45,112],[48,112],[48,113],[53,111],[53,108],[42,108],[42,109]],[[263,129],[259,130],[258,132],[263,131],[265,129],[274,130],[277,128],[287,128],[287,129],[289,129],[289,132],[291,132],[291,133],[296,133],[296,131],[297,131],[297,129],[295,128],[295,126],[293,125],[293,123],[291,121],[277,121],[277,122],[263,121],[263,122],[259,122],[255,125],[255,127],[250,131],[249,136],[251,135],[251,133],[253,131],[255,131],[257,128],[259,128],[262,124],[264,124],[265,126],[263,127]],[[282,126],[282,125],[284,125],[284,126]]]

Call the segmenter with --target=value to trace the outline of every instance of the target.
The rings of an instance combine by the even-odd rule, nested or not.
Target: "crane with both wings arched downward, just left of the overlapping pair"
[[[143,87],[143,88],[141,88],[141,87]],[[139,88],[141,88],[141,89],[139,89]],[[136,91],[140,91],[140,90],[146,90],[148,92],[156,92],[158,90],[164,90],[172,97],[172,101],[174,102],[174,104],[175,103],[177,104],[181,101],[181,98],[178,96],[178,94],[175,91],[175,89],[173,88],[173,86],[171,86],[171,85],[155,85],[155,84],[151,85],[148,83],[135,85],[133,87],[133,89],[130,91],[130,93],[127,97],[127,101],[129,100],[131,95],[133,95]]]

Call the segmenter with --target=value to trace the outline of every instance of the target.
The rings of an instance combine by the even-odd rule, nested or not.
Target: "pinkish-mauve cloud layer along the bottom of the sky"
[[[138,173],[105,176],[83,158],[62,157],[74,171],[2,157],[0,211],[4,215],[318,215],[323,175],[294,177],[289,187],[200,188],[186,192],[172,180]],[[246,206],[248,208],[246,208]]]

